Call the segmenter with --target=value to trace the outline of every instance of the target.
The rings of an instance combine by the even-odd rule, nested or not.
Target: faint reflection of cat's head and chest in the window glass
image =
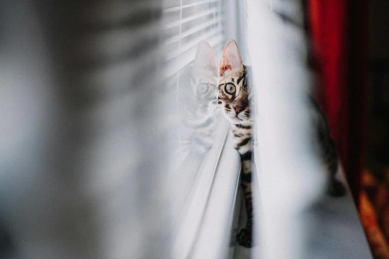
[[[197,46],[195,61],[179,78],[178,114],[181,135],[191,153],[203,155],[212,146],[217,108],[218,64],[207,42]],[[185,137],[186,136],[186,137]]]

